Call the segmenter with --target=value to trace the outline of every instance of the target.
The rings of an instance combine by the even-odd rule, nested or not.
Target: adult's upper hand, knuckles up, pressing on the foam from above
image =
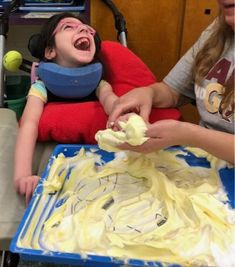
[[[113,105],[108,119],[108,127],[117,124],[120,116],[135,112],[148,122],[152,108],[153,90],[151,87],[139,87],[120,96]],[[117,126],[117,125],[116,125]]]

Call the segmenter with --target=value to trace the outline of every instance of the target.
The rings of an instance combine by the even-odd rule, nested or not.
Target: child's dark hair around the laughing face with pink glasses
[[[86,23],[85,18],[80,16],[76,16],[73,13],[59,13],[50,17],[42,26],[41,32],[38,34],[33,34],[28,42],[28,49],[31,55],[39,60],[48,61],[44,57],[44,52],[46,47],[53,48],[55,46],[55,36],[53,32],[58,25],[58,23],[64,18],[76,18],[81,22]],[[95,56],[98,54],[100,50],[100,37],[96,32],[94,36],[95,45],[96,45],[96,53]]]

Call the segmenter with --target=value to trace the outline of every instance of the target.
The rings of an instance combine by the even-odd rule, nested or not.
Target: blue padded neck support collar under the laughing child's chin
[[[40,62],[37,76],[46,88],[63,98],[83,98],[91,94],[102,77],[101,63],[92,63],[78,68],[66,68],[56,63]]]

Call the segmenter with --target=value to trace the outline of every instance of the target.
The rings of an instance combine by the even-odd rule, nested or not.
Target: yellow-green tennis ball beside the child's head
[[[3,66],[6,70],[16,72],[22,64],[22,55],[15,50],[7,52],[3,57]]]

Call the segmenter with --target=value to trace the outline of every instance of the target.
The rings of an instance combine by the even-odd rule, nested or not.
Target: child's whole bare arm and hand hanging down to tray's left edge
[[[14,185],[17,192],[25,195],[27,204],[39,180],[38,176],[32,175],[32,161],[43,108],[44,103],[40,98],[28,96],[16,141]]]

